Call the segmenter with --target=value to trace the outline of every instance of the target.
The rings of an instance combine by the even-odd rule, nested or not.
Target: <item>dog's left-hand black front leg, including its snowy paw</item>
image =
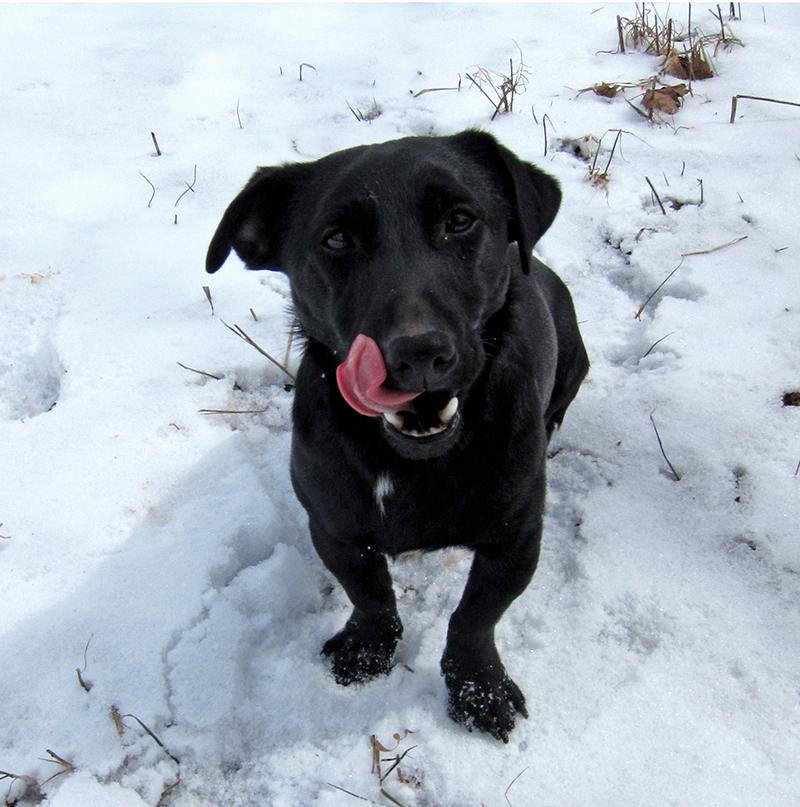
[[[313,524],[311,537],[353,603],[347,624],[322,648],[331,658],[336,682],[347,686],[388,674],[403,625],[386,557],[371,546],[332,538]]]

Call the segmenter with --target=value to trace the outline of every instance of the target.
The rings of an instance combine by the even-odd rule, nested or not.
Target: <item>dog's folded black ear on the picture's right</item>
[[[519,244],[522,271],[530,271],[531,251],[553,223],[561,205],[558,182],[524,162],[492,135],[470,130],[452,138],[500,178],[509,206],[508,240]]]

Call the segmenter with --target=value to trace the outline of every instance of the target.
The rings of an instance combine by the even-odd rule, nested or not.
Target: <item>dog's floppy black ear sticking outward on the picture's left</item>
[[[280,247],[286,232],[286,212],[304,167],[259,168],[242,192],[228,205],[206,254],[206,272],[225,263],[231,248],[248,269],[280,270]]]

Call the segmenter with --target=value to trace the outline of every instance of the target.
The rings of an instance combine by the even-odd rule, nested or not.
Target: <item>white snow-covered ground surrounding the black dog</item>
[[[800,109],[729,114],[800,101],[800,7],[741,10],[742,45],[651,125],[579,94],[658,72],[612,53],[632,3],[0,5],[6,803],[797,804]],[[490,122],[467,73],[520,51],[526,92]],[[256,165],[468,126],[561,181],[538,252],[593,361],[498,630],[531,712],[507,746],[446,715],[463,552],[397,561],[398,666],[333,682],[319,650],[348,604],[291,492],[291,393],[223,325],[282,358],[287,286],[203,272]],[[563,141],[612,129],[592,185]],[[243,409],[263,411],[200,411]],[[408,751],[405,781],[380,782],[370,735]]]

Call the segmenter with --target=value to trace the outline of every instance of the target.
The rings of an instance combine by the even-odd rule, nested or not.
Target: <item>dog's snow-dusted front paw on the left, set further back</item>
[[[332,662],[337,684],[362,684],[388,675],[403,626],[397,615],[365,622],[350,617],[347,624],[325,642],[322,655]]]

